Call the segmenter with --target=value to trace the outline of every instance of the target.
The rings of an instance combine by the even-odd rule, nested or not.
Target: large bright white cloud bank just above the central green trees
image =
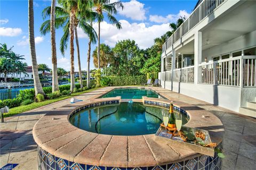
[[[146,49],[154,44],[156,37],[160,37],[170,30],[169,23],[147,27],[146,23],[129,23],[126,20],[120,20],[119,22],[122,24],[123,29],[121,30],[118,30],[114,25],[106,21],[101,23],[101,43],[114,47],[118,40],[131,39],[135,40],[140,48]],[[93,28],[98,30],[98,24],[94,23]],[[83,32],[79,36],[86,37]]]

